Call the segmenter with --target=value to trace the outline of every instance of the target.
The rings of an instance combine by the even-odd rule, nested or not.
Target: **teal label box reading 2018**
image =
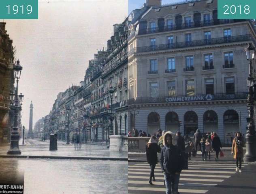
[[[256,0],[218,0],[218,19],[255,19]]]

